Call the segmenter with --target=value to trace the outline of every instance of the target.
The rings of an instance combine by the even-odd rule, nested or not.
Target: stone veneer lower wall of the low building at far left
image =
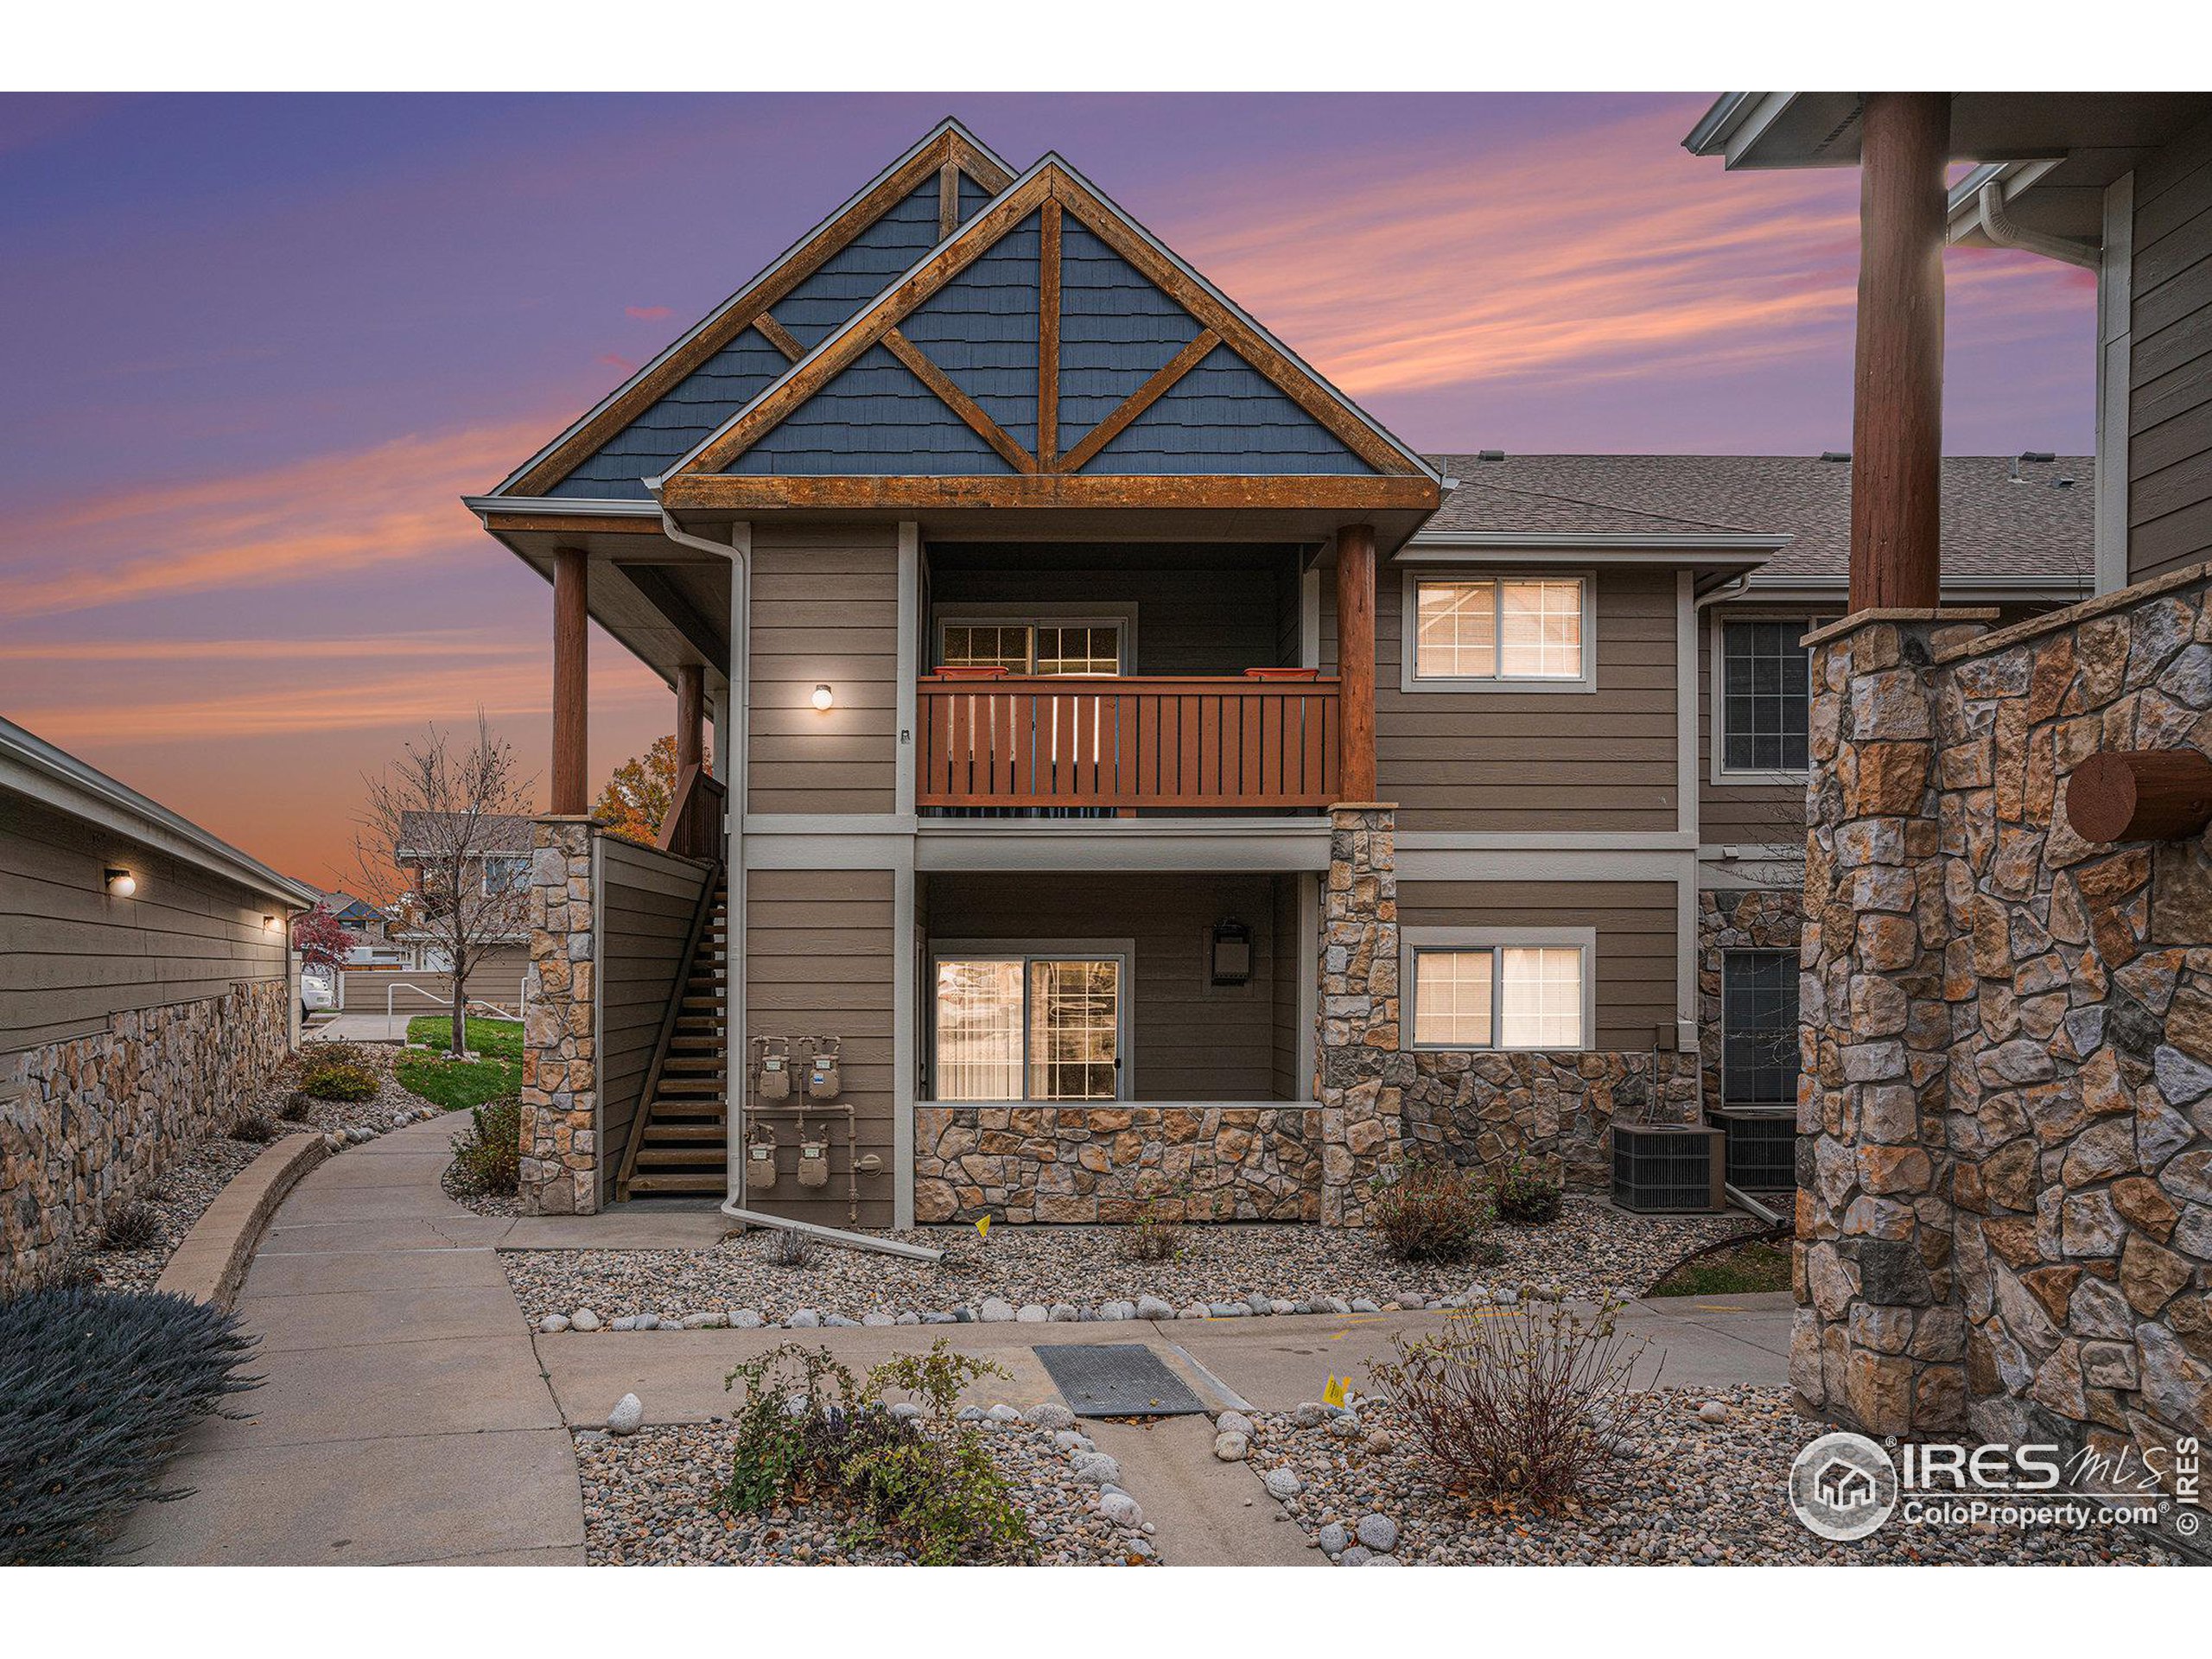
[[[119,1199],[234,1126],[292,1053],[285,980],[117,1013],[0,1057],[0,1292],[46,1279]]]

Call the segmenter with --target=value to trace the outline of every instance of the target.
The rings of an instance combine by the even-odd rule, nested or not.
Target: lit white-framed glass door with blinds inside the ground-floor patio
[[[931,1099],[1126,1099],[1128,940],[945,940]]]

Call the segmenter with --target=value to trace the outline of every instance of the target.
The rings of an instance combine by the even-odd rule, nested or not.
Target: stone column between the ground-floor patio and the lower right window
[[[1402,1157],[1411,1055],[1398,1042],[1396,807],[1329,807],[1329,880],[1321,894],[1321,1223],[1356,1228],[1371,1183]]]

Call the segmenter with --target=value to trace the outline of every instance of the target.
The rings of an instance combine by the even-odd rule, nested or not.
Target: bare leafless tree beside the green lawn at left
[[[515,830],[533,814],[533,779],[518,774],[513,748],[493,737],[478,710],[473,745],[460,748],[429,726],[383,776],[363,783],[367,810],[354,836],[361,874],[385,894],[396,872],[414,872],[400,907],[409,929],[447,958],[451,1048],[465,1053],[469,971],[529,920],[529,854],[515,849]]]

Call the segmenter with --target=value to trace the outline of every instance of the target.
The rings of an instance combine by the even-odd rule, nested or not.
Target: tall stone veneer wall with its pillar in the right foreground
[[[1869,1433],[2212,1433],[2212,860],[2064,818],[2212,741],[2197,568],[2035,622],[1823,630],[1792,1380]]]

